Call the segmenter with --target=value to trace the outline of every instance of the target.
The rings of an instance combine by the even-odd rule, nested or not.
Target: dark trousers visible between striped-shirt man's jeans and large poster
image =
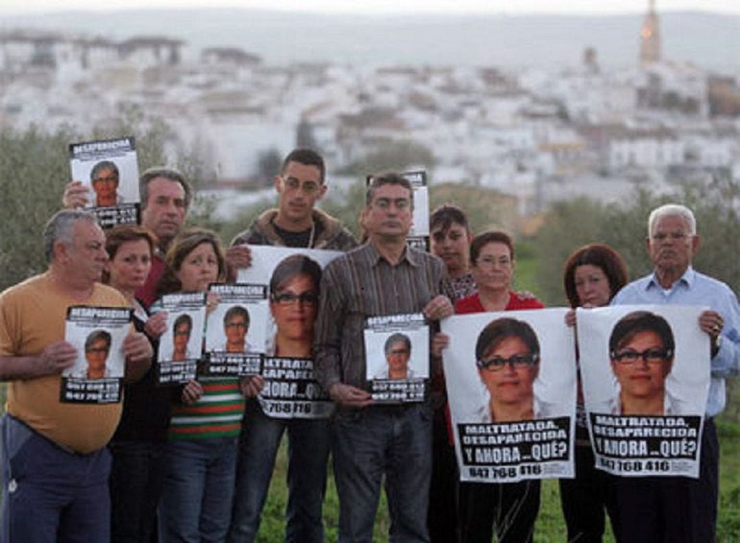
[[[457,487],[459,475],[455,448],[447,436],[445,406],[434,410],[431,441],[431,485],[427,526],[431,543],[457,543],[460,530],[457,520]]]

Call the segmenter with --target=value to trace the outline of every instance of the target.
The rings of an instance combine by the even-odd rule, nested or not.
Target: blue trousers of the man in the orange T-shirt
[[[4,499],[0,542],[107,542],[110,539],[108,476],[103,447],[77,454],[4,415]]]

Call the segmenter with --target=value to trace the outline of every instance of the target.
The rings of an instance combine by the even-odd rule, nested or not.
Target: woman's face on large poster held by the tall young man
[[[278,339],[283,337],[312,342],[317,304],[316,284],[310,276],[298,275],[283,284],[270,302]]]

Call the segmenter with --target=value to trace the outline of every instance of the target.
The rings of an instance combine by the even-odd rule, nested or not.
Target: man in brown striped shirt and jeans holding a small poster
[[[374,405],[363,330],[371,316],[452,314],[443,261],[406,246],[413,191],[397,173],[372,176],[363,226],[368,243],[327,264],[321,278],[316,372],[337,403],[332,421],[340,542],[370,541],[385,481],[390,541],[428,542],[431,402]]]

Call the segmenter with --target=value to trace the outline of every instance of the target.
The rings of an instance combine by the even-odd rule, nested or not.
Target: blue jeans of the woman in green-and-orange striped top
[[[226,541],[236,449],[235,437],[182,439],[167,444],[159,510],[161,541]]]

